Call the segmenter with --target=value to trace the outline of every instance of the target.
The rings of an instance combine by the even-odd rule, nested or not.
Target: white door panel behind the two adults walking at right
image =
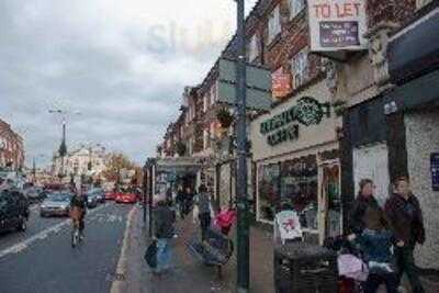
[[[353,149],[354,196],[359,193],[362,179],[372,179],[376,189],[375,198],[384,205],[390,193],[389,150],[385,143]]]

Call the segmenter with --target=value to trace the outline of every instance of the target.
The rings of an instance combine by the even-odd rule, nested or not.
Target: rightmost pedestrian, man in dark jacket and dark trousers
[[[414,293],[425,292],[415,264],[413,251],[425,243],[423,212],[410,190],[409,179],[399,177],[394,182],[394,193],[385,203],[385,213],[396,238],[395,256],[398,266],[398,283],[404,272]]]

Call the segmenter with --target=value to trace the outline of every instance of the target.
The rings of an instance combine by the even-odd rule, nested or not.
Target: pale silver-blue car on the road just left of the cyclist
[[[68,192],[50,193],[40,205],[40,215],[44,216],[68,216],[72,194]]]

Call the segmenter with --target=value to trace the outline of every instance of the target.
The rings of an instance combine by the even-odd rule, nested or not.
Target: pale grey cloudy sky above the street
[[[248,10],[256,0],[246,1]],[[0,1],[0,119],[27,162],[101,143],[142,162],[235,30],[233,0]],[[75,114],[79,112],[80,114]]]

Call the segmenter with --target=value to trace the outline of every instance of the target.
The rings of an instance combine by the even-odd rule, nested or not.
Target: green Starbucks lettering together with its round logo
[[[320,103],[312,97],[303,97],[284,112],[263,121],[260,133],[267,135],[269,145],[274,146],[299,138],[300,125],[318,125],[324,117],[330,117],[330,104]]]

